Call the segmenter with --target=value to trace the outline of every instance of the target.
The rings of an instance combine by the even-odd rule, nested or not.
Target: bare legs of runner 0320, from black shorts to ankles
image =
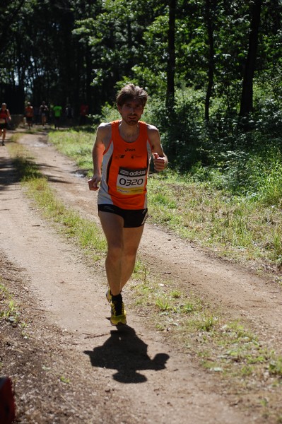
[[[143,226],[124,228],[123,218],[114,213],[100,212],[99,216],[107,239],[107,281],[112,295],[118,295],[134,270]]]

